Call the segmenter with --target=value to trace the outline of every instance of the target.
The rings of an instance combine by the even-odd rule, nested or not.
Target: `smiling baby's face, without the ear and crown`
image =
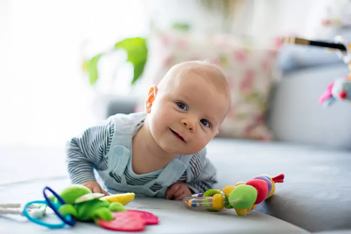
[[[191,155],[203,149],[218,133],[229,97],[196,73],[164,87],[150,112],[150,130],[166,152]]]

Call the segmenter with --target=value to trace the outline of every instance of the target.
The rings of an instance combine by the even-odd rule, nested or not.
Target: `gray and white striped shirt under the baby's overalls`
[[[110,150],[114,133],[113,120],[106,120],[102,124],[88,128],[80,136],[72,138],[67,143],[67,169],[72,183],[81,184],[88,180],[96,180],[94,168],[97,170],[107,169],[107,158],[105,156]],[[192,174],[190,178],[192,179],[188,181],[187,171],[189,172],[189,170],[186,170],[177,182],[187,183],[192,192],[205,192],[217,182],[215,170],[213,170],[214,166],[205,154],[194,154],[188,167],[190,167]],[[206,170],[206,168],[212,170]],[[134,173],[129,170],[127,167],[124,172],[126,182],[129,185],[144,185],[158,176],[158,173],[133,176]],[[120,182],[119,176],[113,173],[110,173],[110,176]],[[161,186],[154,184],[151,189],[157,191],[161,189]]]

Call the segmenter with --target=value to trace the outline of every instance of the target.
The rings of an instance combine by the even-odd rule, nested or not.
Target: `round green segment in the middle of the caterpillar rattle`
[[[229,195],[229,202],[234,209],[247,209],[254,205],[257,198],[257,190],[247,184],[240,184],[235,187]]]

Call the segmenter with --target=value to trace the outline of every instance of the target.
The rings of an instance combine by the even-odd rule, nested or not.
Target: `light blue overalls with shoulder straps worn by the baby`
[[[110,117],[115,122],[115,133],[106,155],[108,168],[97,171],[104,185],[103,188],[110,194],[135,193],[136,196],[165,197],[167,188],[187,170],[192,156],[177,156],[160,171],[156,179],[144,185],[127,184],[124,172],[128,166],[129,169],[132,168],[132,138],[141,127],[146,115],[146,113],[133,113],[127,116],[117,114]],[[157,191],[151,190],[150,187],[155,183],[162,188]]]

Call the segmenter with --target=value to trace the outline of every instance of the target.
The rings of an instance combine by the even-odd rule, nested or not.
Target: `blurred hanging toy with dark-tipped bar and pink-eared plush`
[[[335,37],[334,43],[314,41],[301,38],[284,38],[283,42],[312,45],[336,50],[337,55],[348,64],[351,70],[351,44],[346,43],[340,36]],[[319,103],[325,107],[331,106],[335,101],[351,101],[351,73],[348,76],[335,79],[327,86],[325,93],[319,98]]]

